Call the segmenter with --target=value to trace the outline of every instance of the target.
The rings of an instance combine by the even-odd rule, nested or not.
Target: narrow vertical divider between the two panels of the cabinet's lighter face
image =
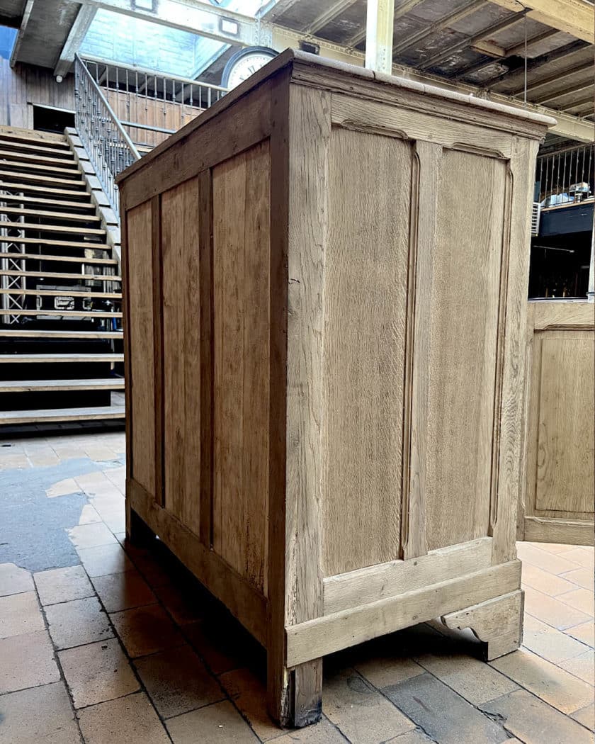
[[[403,426],[402,557],[428,551],[425,492],[428,487],[428,419],[433,251],[442,147],[418,140],[411,168],[408,307]]]

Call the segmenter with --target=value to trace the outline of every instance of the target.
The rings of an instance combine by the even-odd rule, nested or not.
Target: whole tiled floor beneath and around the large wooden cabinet
[[[123,488],[120,432],[0,441],[1,744],[594,740],[593,549],[518,545],[518,652],[425,623],[327,658],[323,721],[282,731],[257,644],[125,544]]]

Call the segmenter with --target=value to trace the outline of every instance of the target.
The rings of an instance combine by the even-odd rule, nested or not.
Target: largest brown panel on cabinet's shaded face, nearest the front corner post
[[[266,593],[268,140],[213,168],[213,549]]]

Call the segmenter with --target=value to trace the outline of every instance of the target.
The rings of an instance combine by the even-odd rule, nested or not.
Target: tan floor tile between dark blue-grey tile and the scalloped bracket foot
[[[518,684],[472,656],[425,654],[416,661],[475,706],[518,689]]]

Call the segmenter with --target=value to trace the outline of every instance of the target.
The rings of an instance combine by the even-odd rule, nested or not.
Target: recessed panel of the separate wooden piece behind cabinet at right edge
[[[546,331],[539,336],[535,506],[540,511],[592,514],[594,334]]]

